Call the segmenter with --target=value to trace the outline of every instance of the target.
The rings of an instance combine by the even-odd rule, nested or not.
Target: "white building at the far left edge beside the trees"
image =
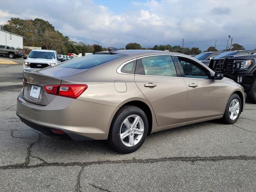
[[[23,36],[0,29],[0,45],[23,48]]]

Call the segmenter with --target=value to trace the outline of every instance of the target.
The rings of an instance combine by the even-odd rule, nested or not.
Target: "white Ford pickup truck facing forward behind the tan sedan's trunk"
[[[28,57],[24,56],[23,72],[54,66],[61,60],[54,50],[32,50]]]

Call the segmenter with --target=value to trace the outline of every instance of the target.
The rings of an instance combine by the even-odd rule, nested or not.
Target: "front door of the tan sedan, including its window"
[[[202,64],[177,56],[182,76],[188,88],[187,121],[223,114],[225,88],[221,80],[212,80]]]

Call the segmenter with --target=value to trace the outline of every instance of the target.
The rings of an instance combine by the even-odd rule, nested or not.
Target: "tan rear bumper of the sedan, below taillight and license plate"
[[[21,92],[17,99],[16,114],[22,122],[48,136],[105,140],[117,110],[113,106],[60,96],[43,106],[24,100]],[[66,135],[56,134],[52,129],[61,130]]]

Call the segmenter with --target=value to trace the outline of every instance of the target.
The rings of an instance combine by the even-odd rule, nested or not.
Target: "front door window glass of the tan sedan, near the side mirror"
[[[200,78],[200,79],[208,79],[209,76],[206,72],[200,69],[198,66],[189,62],[188,60],[183,60],[179,58],[180,64],[184,71],[185,77],[188,78]]]

